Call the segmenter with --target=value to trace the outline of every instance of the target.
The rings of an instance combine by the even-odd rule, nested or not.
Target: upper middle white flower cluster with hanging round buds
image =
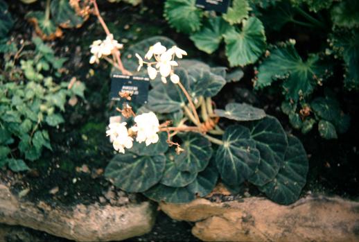
[[[150,46],[150,49],[145,55],[145,59],[147,60],[151,60],[152,57],[154,57],[155,62],[145,62],[141,56],[136,53],[136,57],[139,59],[139,68],[137,71],[141,70],[143,64],[147,64],[148,76],[150,76],[151,80],[155,79],[159,72],[163,83],[167,83],[168,76],[170,76],[170,80],[173,83],[179,83],[180,77],[174,73],[173,67],[178,66],[178,63],[175,61],[175,56],[182,58],[183,55],[187,55],[186,51],[177,46],[173,46],[167,50],[165,46],[157,42],[155,45]],[[152,65],[155,67],[152,67]]]

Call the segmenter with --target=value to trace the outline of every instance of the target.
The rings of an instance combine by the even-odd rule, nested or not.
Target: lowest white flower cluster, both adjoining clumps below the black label
[[[146,142],[146,146],[155,144],[159,141],[159,121],[156,114],[148,112],[134,117],[135,126],[126,128],[127,123],[110,123],[106,135],[110,136],[114,149],[119,153],[125,153],[125,148],[132,148],[133,138],[131,133],[137,132],[136,141]]]

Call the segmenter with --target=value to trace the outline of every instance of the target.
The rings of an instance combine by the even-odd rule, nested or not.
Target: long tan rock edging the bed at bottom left
[[[51,207],[22,202],[0,184],[0,223],[21,225],[74,241],[121,241],[150,232],[156,206],[150,202],[122,207],[76,205]]]

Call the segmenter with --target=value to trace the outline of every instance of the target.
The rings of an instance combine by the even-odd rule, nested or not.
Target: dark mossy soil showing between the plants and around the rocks
[[[40,1],[39,1],[40,2]],[[143,1],[136,8],[125,3],[108,3],[98,1],[103,17],[115,39],[120,42],[132,44],[138,40],[153,35],[166,35],[179,46],[185,46],[190,58],[204,60],[208,64],[216,66],[228,66],[223,58],[223,51],[214,55],[206,55],[195,49],[188,37],[176,33],[170,28],[162,16],[162,1]],[[15,37],[30,40],[32,27],[25,24],[25,13],[29,9],[42,9],[40,3],[26,6],[19,3],[10,3],[10,12],[15,19],[19,19],[12,31]],[[301,30],[303,31],[303,30]],[[297,33],[288,32],[291,37]],[[302,38],[299,46],[306,46],[313,38],[313,33],[306,33],[309,38]],[[21,193],[28,190],[26,199],[30,201],[45,200],[55,206],[76,205],[78,203],[91,204],[94,202],[113,202],[115,198],[123,198],[126,202],[140,202],[145,199],[141,195],[128,194],[116,189],[105,180],[103,170],[114,155],[112,145],[105,137],[110,113],[114,109],[109,101],[110,93],[110,66],[102,62],[98,66],[89,65],[89,45],[94,40],[102,39],[104,33],[94,17],[78,29],[64,31],[61,40],[52,42],[58,55],[69,58],[65,63],[68,69],[64,80],[76,77],[87,86],[85,100],[78,101],[74,107],[67,105],[64,118],[67,123],[60,128],[51,130],[50,136],[53,152],[44,150],[42,158],[37,162],[28,164],[32,170],[28,173],[12,173],[0,171],[0,180],[8,183],[12,192]],[[290,37],[290,36],[289,36]],[[313,48],[319,48],[313,47]],[[223,48],[222,48],[223,49]],[[315,51],[315,50],[311,50]],[[238,83],[229,83],[215,98],[218,107],[223,107],[230,101],[246,102],[262,107],[265,112],[276,116],[288,132],[297,135],[304,144],[310,157],[310,171],[308,182],[304,188],[305,193],[326,193],[339,195],[344,198],[358,199],[359,197],[359,150],[358,150],[358,126],[359,122],[359,96],[353,92],[346,92],[335,88],[338,99],[344,112],[351,115],[351,128],[339,139],[324,140],[319,137],[317,130],[307,135],[301,135],[297,130],[292,130],[288,123],[288,116],[279,109],[281,96],[278,84],[261,92],[252,91],[251,79],[254,74],[253,67],[246,67],[245,78]],[[338,87],[333,77],[329,87]],[[323,90],[319,90],[323,92]],[[261,196],[254,187],[245,187],[238,196],[225,196],[211,198],[214,200],[237,200],[245,196]],[[130,239],[128,241],[198,241],[191,234],[191,224],[176,222],[165,214],[159,213],[155,228],[149,234]],[[30,229],[24,229],[39,241],[67,241],[55,238],[49,234]],[[25,241],[21,239],[9,239],[8,241]]]

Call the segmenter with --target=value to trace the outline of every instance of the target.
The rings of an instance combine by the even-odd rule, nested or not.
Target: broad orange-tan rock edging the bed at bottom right
[[[160,204],[171,218],[197,221],[192,233],[203,241],[359,241],[359,202],[308,196],[290,206],[266,198]]]

